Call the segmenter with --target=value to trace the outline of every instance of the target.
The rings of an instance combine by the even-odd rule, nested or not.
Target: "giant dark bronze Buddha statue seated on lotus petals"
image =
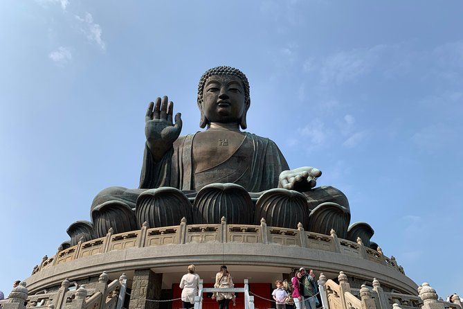
[[[278,146],[245,132],[251,107],[248,79],[233,67],[215,67],[201,76],[197,105],[205,130],[180,136],[181,114],[167,96],[149,103],[145,154],[139,188],[110,187],[91,205],[93,223],[71,225],[69,234],[102,237],[149,227],[267,224],[347,235],[350,213],[345,195],[332,186],[316,187],[321,171],[290,169]]]

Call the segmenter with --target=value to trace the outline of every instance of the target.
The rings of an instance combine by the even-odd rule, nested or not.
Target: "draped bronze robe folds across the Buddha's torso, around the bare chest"
[[[260,192],[277,188],[280,173],[289,170],[273,141],[246,132],[242,145],[230,158],[195,175],[192,157],[195,135],[179,137],[159,162],[154,161],[145,145],[139,188],[170,186],[182,191],[199,191],[206,184],[231,182],[248,192]],[[215,170],[221,173],[214,173]],[[220,177],[215,177],[217,174]]]

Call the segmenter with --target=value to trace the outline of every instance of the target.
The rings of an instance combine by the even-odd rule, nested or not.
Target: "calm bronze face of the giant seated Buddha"
[[[211,76],[203,89],[203,114],[210,123],[239,123],[246,111],[241,79],[236,76]]]

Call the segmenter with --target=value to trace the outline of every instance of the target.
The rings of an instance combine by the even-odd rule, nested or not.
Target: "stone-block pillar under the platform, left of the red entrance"
[[[129,309],[158,309],[159,303],[147,299],[160,299],[163,274],[151,270],[136,270],[131,285]]]

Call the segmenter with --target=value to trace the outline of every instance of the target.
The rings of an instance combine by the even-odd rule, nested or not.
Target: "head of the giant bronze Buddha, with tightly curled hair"
[[[233,67],[215,67],[201,76],[198,85],[200,127],[210,123],[238,123],[246,129],[251,105],[248,78]]]

